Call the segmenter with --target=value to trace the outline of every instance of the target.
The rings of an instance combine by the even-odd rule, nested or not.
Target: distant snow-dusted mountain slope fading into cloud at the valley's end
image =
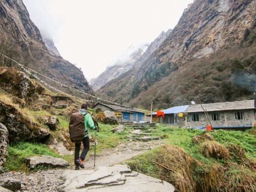
[[[148,46],[148,44],[144,44],[139,48],[135,48],[133,45],[131,45],[128,50],[123,53],[123,57],[121,59],[117,60],[114,65],[108,66],[107,69],[101,73],[101,75],[89,82],[92,89],[97,91],[109,81],[132,69],[133,66],[138,63],[139,58],[143,55]]]

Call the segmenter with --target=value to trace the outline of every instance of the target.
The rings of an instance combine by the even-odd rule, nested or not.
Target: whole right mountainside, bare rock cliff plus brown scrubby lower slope
[[[255,36],[253,33],[255,7],[256,4],[253,0],[235,2],[230,0],[195,0],[183,12],[171,34],[154,53],[150,54],[148,59],[144,60],[139,69],[133,68],[120,75],[98,90],[97,93],[101,96],[112,97],[114,101],[122,101],[148,109],[150,104],[149,102],[146,103],[147,101],[160,103],[159,106],[161,107],[166,107],[169,103],[167,107],[170,107],[174,104],[172,101],[176,99],[175,104],[181,105],[190,101],[190,97],[198,98],[198,94],[205,92],[204,89],[211,89],[212,86],[208,85],[208,81],[202,73],[215,74],[216,72],[213,71],[210,64],[216,62],[224,66],[225,69],[231,67],[231,71],[222,70],[223,75],[217,79],[212,78],[212,84],[220,83],[223,86],[217,85],[217,91],[210,91],[213,94],[213,99],[207,101],[207,93],[204,93],[200,96],[203,97],[202,100],[217,102],[248,98],[249,95],[253,94],[253,91],[247,90],[248,93],[245,96],[237,96],[235,95],[235,88],[234,91],[231,91],[231,96],[227,96],[224,91],[225,85],[237,86],[232,80],[223,83],[221,81],[225,81],[227,76],[232,76],[232,71],[237,69],[235,64],[227,64],[228,59],[229,61],[230,59],[238,59],[239,62],[243,62],[250,57],[251,59],[255,58],[255,55],[249,53],[250,51],[242,50],[244,48],[243,42],[247,37]],[[223,53],[223,55],[219,53]],[[208,57],[211,59],[207,60]],[[244,67],[250,65],[251,63],[248,63]],[[198,82],[195,81],[195,85],[190,86],[191,77],[194,78],[191,69],[202,69],[202,72],[198,74],[198,77],[200,76],[198,80],[201,78],[199,81],[202,81],[202,87],[199,86],[195,92],[194,87],[197,86]],[[249,71],[249,73],[255,74],[253,70],[249,69]],[[175,80],[174,76],[176,76]],[[188,76],[190,78],[187,78]],[[230,78],[232,79],[232,77]],[[244,80],[250,81],[250,79],[251,77],[245,77]],[[183,88],[180,81],[183,81],[182,83],[185,85]],[[162,88],[162,86],[164,87]],[[179,87],[178,91],[176,87]],[[172,95],[173,92],[175,92],[174,95]],[[183,95],[184,92],[186,93],[185,96]]]

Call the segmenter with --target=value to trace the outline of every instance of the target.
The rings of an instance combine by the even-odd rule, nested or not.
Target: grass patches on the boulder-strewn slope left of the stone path
[[[48,91],[51,94],[50,91]],[[69,149],[74,150],[74,144],[69,141],[69,117],[65,116],[64,109],[54,109],[49,108],[48,110],[39,110],[36,111],[30,105],[25,105],[21,107],[19,104],[15,104],[15,98],[11,94],[6,93],[0,89],[0,101],[4,101],[14,107],[16,107],[19,112],[26,116],[27,119],[30,119],[31,122],[38,123],[41,127],[48,130],[53,138],[63,140],[66,139],[69,142]],[[72,97],[72,96],[70,96]],[[83,103],[77,97],[72,97],[72,99],[80,105]],[[24,101],[25,102],[25,101]],[[94,110],[89,109],[90,112],[95,113]],[[59,119],[59,125],[57,130],[51,131],[47,125],[43,123],[43,118],[47,116],[55,115]],[[112,148],[118,145],[119,142],[126,139],[128,130],[125,130],[123,133],[112,133],[110,130],[115,127],[115,125],[107,125],[99,123],[100,132],[97,134],[98,145],[96,147],[96,153],[101,153],[102,149]],[[94,137],[94,131],[91,130],[91,135]],[[64,138],[66,136],[66,138]],[[65,142],[64,142],[65,143]],[[91,146],[91,149],[94,151],[94,146]],[[53,157],[63,158],[68,162],[73,162],[73,155],[59,155],[57,152],[49,149],[46,144],[38,143],[28,143],[28,142],[18,142],[15,144],[10,144],[8,148],[8,158],[5,163],[4,171],[27,171],[26,167],[26,158],[31,156],[38,155],[50,155]],[[88,154],[91,155],[91,154]]]

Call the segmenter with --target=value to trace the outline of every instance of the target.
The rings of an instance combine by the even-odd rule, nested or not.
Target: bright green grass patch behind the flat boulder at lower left
[[[27,170],[26,158],[32,156],[49,155],[61,158],[52,149],[45,144],[19,142],[8,146],[8,157],[5,163],[6,171],[24,171]]]

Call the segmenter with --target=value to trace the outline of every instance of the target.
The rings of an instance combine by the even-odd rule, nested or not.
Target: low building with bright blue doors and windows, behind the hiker
[[[96,103],[91,108],[93,109],[100,108],[102,111],[112,111],[115,113],[119,122],[144,123],[145,121],[145,113],[133,107],[106,104],[106,103],[99,102],[99,103]]]

